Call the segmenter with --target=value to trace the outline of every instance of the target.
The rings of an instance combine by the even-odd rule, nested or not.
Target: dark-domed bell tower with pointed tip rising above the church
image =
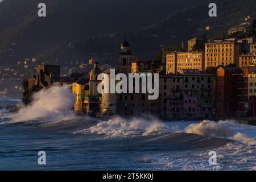
[[[129,43],[126,41],[122,42],[119,53],[119,65],[118,69],[120,73],[128,75],[131,73],[131,49]]]

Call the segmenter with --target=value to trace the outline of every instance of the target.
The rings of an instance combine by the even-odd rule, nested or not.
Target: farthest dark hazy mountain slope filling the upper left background
[[[47,5],[46,18],[37,15],[40,2]],[[188,0],[182,3],[178,0],[5,0],[0,3],[0,60],[16,63],[25,57],[52,52],[74,40],[108,32],[137,31],[193,3]]]

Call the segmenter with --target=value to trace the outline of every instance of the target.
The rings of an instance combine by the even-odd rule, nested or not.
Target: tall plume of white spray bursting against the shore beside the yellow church
[[[52,86],[32,96],[32,103],[22,106],[17,114],[12,115],[13,122],[44,118],[49,121],[60,121],[76,118],[71,110],[75,96],[68,86]]]

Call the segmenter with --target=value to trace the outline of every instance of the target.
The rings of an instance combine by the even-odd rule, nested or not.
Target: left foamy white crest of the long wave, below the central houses
[[[100,122],[80,133],[104,134],[106,137],[129,137],[136,135],[154,135],[170,133],[170,129],[154,117],[125,119],[115,117],[108,121]]]

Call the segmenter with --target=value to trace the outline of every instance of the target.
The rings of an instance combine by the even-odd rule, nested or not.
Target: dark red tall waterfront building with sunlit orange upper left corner
[[[237,117],[237,72],[235,67],[217,69],[215,106],[217,118]]]

